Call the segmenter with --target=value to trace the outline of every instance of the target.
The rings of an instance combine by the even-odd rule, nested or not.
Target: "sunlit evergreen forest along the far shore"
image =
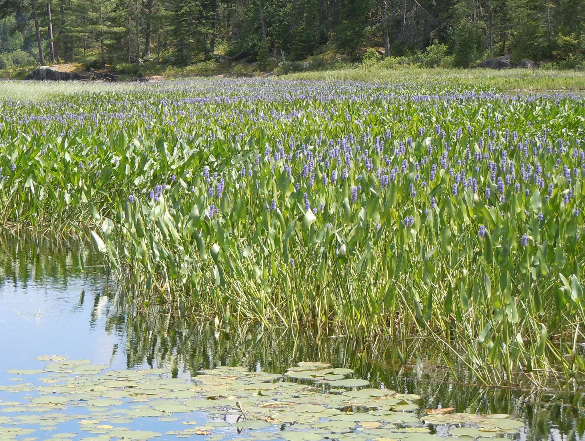
[[[442,67],[512,54],[583,68],[584,23],[582,0],[0,0],[0,69],[325,51],[356,61],[371,47]]]

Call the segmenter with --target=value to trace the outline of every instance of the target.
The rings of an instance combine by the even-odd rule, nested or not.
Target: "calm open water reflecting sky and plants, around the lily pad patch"
[[[147,318],[132,311],[117,293],[99,256],[77,240],[0,236],[0,385],[39,384],[36,378],[40,375],[15,375],[7,370],[42,369],[45,362],[36,357],[44,354],[88,359],[113,369],[169,368],[168,375],[184,378],[217,366],[283,373],[298,361],[327,361],[334,367],[352,368],[356,378],[369,380],[372,387],[421,395],[421,409],[454,407],[457,412],[511,414],[526,422],[511,439],[585,439],[582,392],[480,387],[463,369],[457,383],[432,349],[421,342],[409,344],[411,353],[422,356],[418,370],[399,366],[393,344],[383,339],[366,344],[343,336],[319,337],[306,331],[257,326],[216,332],[207,323],[164,315]],[[2,416],[11,415],[3,412],[2,401],[18,401],[16,395],[0,387],[0,425]],[[198,421],[209,421],[208,415],[196,416]],[[185,418],[193,419],[193,415]],[[185,429],[181,424],[185,418],[176,422],[137,418],[130,426],[164,433]],[[445,434],[441,426],[432,429]],[[228,437],[240,436],[222,430]],[[77,422],[70,421],[54,432],[78,431]],[[26,436],[44,439],[53,435],[37,432]],[[82,436],[91,435],[78,435]],[[0,439],[7,438],[0,435]]]

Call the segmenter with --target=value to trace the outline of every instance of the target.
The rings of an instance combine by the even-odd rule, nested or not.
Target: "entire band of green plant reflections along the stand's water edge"
[[[449,368],[442,366],[446,361],[441,354],[421,340],[394,344],[380,339],[372,343],[252,325],[241,325],[228,333],[179,317],[133,313],[125,298],[110,289],[113,287],[102,275],[102,263],[96,257],[91,248],[74,239],[0,235],[0,284],[66,287],[81,278],[85,290],[80,292],[79,302],[92,305],[90,326],[95,326],[98,317],[105,317],[108,333],[125,336],[121,348],[129,368],[164,366],[178,376],[212,366],[243,365],[250,370],[284,373],[298,361],[328,361],[335,367],[352,368],[357,378],[367,378],[374,386],[384,384],[399,392],[421,395],[422,408],[452,406],[457,412],[520,415],[528,423],[527,439],[546,438],[551,430],[558,430],[569,440],[584,436],[583,394],[531,394],[479,387],[464,364],[447,360],[457,373],[455,381]],[[398,347],[405,354],[421,354],[419,366],[396,364]],[[115,344],[112,353],[118,350],[122,349]]]

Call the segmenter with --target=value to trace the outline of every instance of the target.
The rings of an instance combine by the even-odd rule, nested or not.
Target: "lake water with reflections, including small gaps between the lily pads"
[[[173,414],[170,418],[166,418],[166,414],[160,418],[129,418],[119,411],[112,414],[108,406],[88,409],[84,399],[71,405],[55,405],[54,412],[45,405],[39,405],[40,408],[27,406],[30,398],[43,397],[43,394],[59,395],[49,394],[46,388],[63,384],[66,378],[74,375],[70,370],[22,374],[23,370],[43,370],[51,361],[37,360],[37,357],[46,355],[70,357],[68,360],[87,359],[92,364],[109,366],[109,370],[150,369],[144,371],[147,374],[140,375],[144,378],[149,375],[162,379],[184,378],[185,383],[193,385],[197,384],[198,371],[203,369],[243,366],[252,372],[280,375],[301,361],[321,361],[334,368],[354,370],[352,378],[366,379],[372,388],[420,395],[420,399],[409,400],[419,406],[412,412],[418,418],[425,415],[424,409],[448,407],[455,408],[454,412],[469,414],[510,414],[511,418],[525,423],[517,433],[504,435],[510,439],[585,439],[583,392],[482,387],[474,384],[473,375],[462,367],[456,368],[456,381],[451,371],[443,366],[445,363],[424,342],[412,340],[407,345],[409,352],[421,354],[418,368],[401,366],[395,357],[393,342],[383,337],[366,343],[334,333],[324,336],[304,329],[265,329],[256,325],[242,325],[225,332],[216,330],[213,323],[194,318],[169,318],[161,313],[139,315],[130,307],[125,295],[118,292],[99,256],[79,241],[49,240],[30,235],[0,237],[0,440],[132,439],[130,435],[118,436],[122,432],[112,432],[112,429],[96,429],[98,426],[159,432],[162,439],[176,439],[179,435],[210,441],[230,438],[263,440],[273,439],[286,426],[239,430],[233,424],[242,420],[233,406],[211,411],[197,408]],[[161,370],[159,374],[153,368],[165,371]],[[95,384],[105,381],[99,377],[101,374],[85,374],[88,374],[87,378],[94,378]],[[277,377],[273,375],[273,378]],[[116,381],[129,381],[128,378],[132,380],[132,373],[124,371],[118,374]],[[87,383],[87,380],[83,381]],[[307,380],[298,380],[298,383],[313,384]],[[91,389],[84,383],[81,387],[83,393],[95,394],[102,385],[99,383]],[[318,388],[325,391],[325,386],[318,385]],[[132,385],[124,390],[132,390]],[[118,392],[111,396],[116,397]],[[179,391],[173,393],[176,398],[181,398]],[[262,397],[267,393],[269,391],[259,395]],[[120,397],[122,395],[120,392]],[[120,401],[123,403],[119,409],[140,411],[146,408],[140,401],[127,398],[120,398]],[[345,406],[343,411],[347,410]],[[85,418],[89,421],[86,428],[80,423],[80,418],[90,411],[93,413]],[[50,418],[39,422],[39,415],[50,415]],[[311,417],[307,421],[315,419],[318,418]],[[310,424],[306,422],[300,427],[311,432],[311,428],[307,428]],[[412,425],[397,426],[408,428]],[[428,430],[421,430],[426,433],[398,433],[394,438],[426,440],[433,434],[447,436],[456,426],[426,423],[422,427]],[[18,432],[22,428],[34,429],[35,432]],[[173,433],[188,428],[202,428],[207,434]],[[84,432],[83,429],[93,430]],[[351,430],[349,435],[339,436],[344,441],[359,441],[364,439],[365,432],[359,436],[352,433],[359,434],[361,429],[363,427]],[[135,432],[129,433],[137,436]],[[486,436],[495,435],[487,432]],[[389,439],[380,435],[366,437]],[[302,437],[291,439],[309,441]]]

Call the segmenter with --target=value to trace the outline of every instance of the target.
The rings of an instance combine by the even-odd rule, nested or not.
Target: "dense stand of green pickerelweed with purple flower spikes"
[[[91,227],[145,308],[415,333],[486,381],[568,379],[583,104],[263,80],[5,102],[0,216]]]

